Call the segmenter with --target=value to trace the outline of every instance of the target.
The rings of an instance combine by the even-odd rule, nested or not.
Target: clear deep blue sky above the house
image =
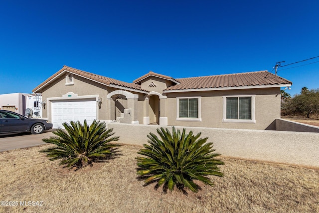
[[[318,23],[318,0],[2,0],[0,94],[31,93],[63,65],[127,82],[271,71],[319,56]],[[278,75],[291,95],[319,88],[319,58]]]

